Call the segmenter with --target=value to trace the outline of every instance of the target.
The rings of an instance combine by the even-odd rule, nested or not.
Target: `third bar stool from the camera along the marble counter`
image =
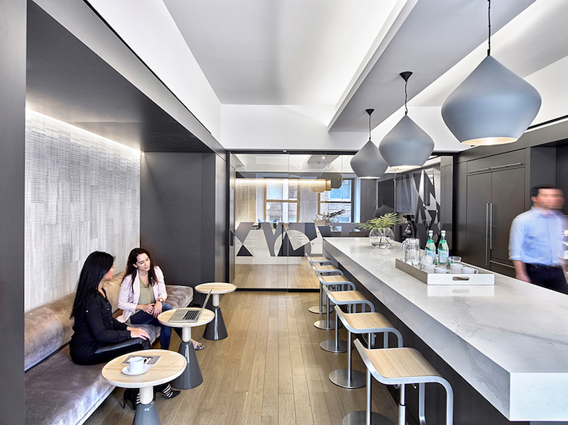
[[[328,278],[332,277],[337,279],[338,277],[342,276],[327,276],[327,277]],[[324,293],[327,296],[327,302],[331,300],[334,304],[337,305],[347,305],[349,306],[350,313],[353,312],[353,309],[356,309],[357,304],[361,304],[361,307],[363,305],[368,305],[371,311],[375,311],[373,304],[371,304],[371,302],[369,302],[363,296],[363,294],[361,294],[361,292],[355,290],[355,285],[352,282],[349,282],[347,280],[336,280],[336,279],[324,280],[324,277],[320,277],[320,280],[323,280]],[[338,284],[349,287],[350,290],[330,291],[328,289],[328,287]],[[364,309],[364,307],[362,308]],[[337,314],[335,316],[336,316],[335,319],[336,323],[338,325],[341,325],[341,322],[337,321]],[[329,320],[329,313],[327,314],[327,320]],[[339,326],[335,326],[335,338],[322,341],[320,343],[320,347],[325,351],[329,351],[329,353],[346,353],[348,344],[347,341],[339,341]]]

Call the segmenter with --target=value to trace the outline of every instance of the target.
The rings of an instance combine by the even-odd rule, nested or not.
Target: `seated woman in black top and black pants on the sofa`
[[[126,326],[112,316],[102,285],[112,279],[113,263],[112,255],[96,251],[87,257],[81,270],[71,311],[75,332],[69,344],[73,363],[78,365],[106,363],[119,355],[150,348],[146,331]],[[154,392],[158,391],[168,399],[180,394],[170,384],[155,387]],[[132,394],[125,392],[124,398],[133,402],[136,394]]]

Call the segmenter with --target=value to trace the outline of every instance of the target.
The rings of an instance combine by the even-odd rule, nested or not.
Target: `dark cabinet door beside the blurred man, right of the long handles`
[[[491,175],[493,203],[491,260],[510,264],[510,223],[525,211],[525,168],[493,171]]]

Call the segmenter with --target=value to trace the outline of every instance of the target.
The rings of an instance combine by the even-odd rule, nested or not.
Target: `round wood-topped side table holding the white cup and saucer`
[[[122,364],[129,355],[159,355],[158,363],[151,366],[148,372],[142,375],[125,375]],[[142,350],[123,354],[109,361],[102,368],[102,376],[111,385],[121,388],[139,388],[140,404],[136,405],[133,425],[161,425],[158,410],[154,404],[154,385],[165,384],[180,376],[185,370],[185,358],[175,351],[168,350]]]

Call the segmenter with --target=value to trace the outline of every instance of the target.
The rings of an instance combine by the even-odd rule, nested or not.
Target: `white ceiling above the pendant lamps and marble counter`
[[[439,109],[486,54],[486,0],[92,0],[92,4],[186,105],[195,102],[194,89],[180,78],[187,57],[195,60],[221,106],[289,106],[332,133],[365,132],[368,108],[375,109],[373,128],[392,128],[404,102],[404,82],[398,74],[406,70],[414,72],[408,83],[409,105]],[[521,77],[566,62],[561,60],[568,56],[564,24],[568,1],[498,0],[491,4],[491,16],[492,54]],[[182,42],[185,50],[179,47]],[[175,53],[173,45],[178,46]],[[202,119],[197,105],[188,107]],[[214,108],[214,102],[209,104],[207,114]],[[544,96],[543,108],[552,109]],[[430,116],[434,111],[421,114]],[[204,117],[202,122],[217,136],[216,121],[208,125]],[[447,129],[439,134],[453,137]],[[356,140],[344,148],[360,148],[364,142]],[[449,142],[454,150],[452,143],[457,140]],[[460,148],[457,143],[455,150]]]

